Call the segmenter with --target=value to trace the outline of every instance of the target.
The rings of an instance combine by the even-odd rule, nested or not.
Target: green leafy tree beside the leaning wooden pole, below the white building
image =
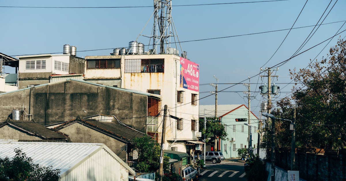
[[[134,139],[134,149],[138,151],[137,170],[140,172],[155,172],[160,166],[161,146],[149,136]],[[163,169],[169,168],[169,157],[163,159]]]

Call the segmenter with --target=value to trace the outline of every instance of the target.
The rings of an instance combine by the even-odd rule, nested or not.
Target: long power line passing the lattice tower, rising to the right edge
[[[325,24],[320,24],[320,25],[327,25],[327,24],[333,24],[333,23],[340,23],[340,22],[346,22],[346,20],[343,21],[335,21],[331,23],[325,23]],[[306,28],[306,27],[312,27],[316,25],[309,25],[309,26],[301,26],[297,28],[292,28],[292,29],[299,29],[299,28]],[[205,38],[205,39],[199,39],[199,40],[189,40],[189,41],[181,41],[181,42],[171,42],[172,43],[186,43],[186,42],[195,42],[195,41],[205,41],[205,40],[215,40],[215,39],[221,39],[221,38],[230,38],[230,37],[238,37],[238,36],[246,36],[246,35],[255,35],[255,34],[264,34],[264,33],[271,33],[271,32],[279,32],[279,31],[285,31],[289,30],[288,29],[279,29],[279,30],[273,30],[273,31],[266,31],[266,32],[259,32],[259,33],[248,33],[248,34],[242,34],[242,35],[232,35],[232,36],[224,36],[224,37],[216,37],[216,38]],[[144,45],[144,46],[152,46],[153,44],[150,45]],[[119,48],[119,47],[118,47]],[[129,47],[121,47],[121,48],[129,48]],[[107,49],[94,49],[94,50],[80,50],[76,52],[88,52],[88,51],[100,51],[100,50],[113,50],[115,48],[107,48]],[[54,52],[54,53],[39,53],[35,55],[42,55],[42,54],[56,54],[56,53],[63,53],[63,52]],[[10,55],[10,57],[16,57],[16,56],[25,56],[25,55],[33,55],[33,54],[22,54],[22,55]],[[14,61],[14,60],[11,60]],[[16,60],[17,61],[17,60]]]

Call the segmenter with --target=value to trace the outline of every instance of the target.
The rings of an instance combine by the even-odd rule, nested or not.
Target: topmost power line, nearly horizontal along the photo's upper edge
[[[207,5],[231,5],[231,4],[245,4],[245,3],[258,3],[258,2],[275,2],[275,1],[288,1],[288,0],[270,0],[270,1],[249,1],[249,2],[229,2],[229,3],[211,3],[211,4],[197,4],[197,5],[172,5],[174,7],[180,6],[207,6]],[[114,6],[114,7],[39,7],[39,6],[0,6],[0,8],[65,8],[65,9],[96,9],[96,8],[153,8],[153,6]]]

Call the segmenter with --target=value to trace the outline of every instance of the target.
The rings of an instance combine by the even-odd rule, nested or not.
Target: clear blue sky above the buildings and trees
[[[247,0],[173,0],[172,5],[196,5],[209,3],[248,2]],[[177,6],[172,8],[172,17],[180,41],[200,40],[225,36],[243,35],[289,29],[297,19],[306,0],[287,0],[277,2],[257,2],[205,6]],[[300,14],[293,28],[316,25],[329,0],[309,0]],[[336,0],[332,0],[320,22],[325,18]],[[132,1],[26,1],[11,0],[0,1],[0,6],[30,6],[30,7],[128,7],[152,6],[153,0]],[[329,12],[316,33],[300,52],[315,46],[332,37],[346,21],[346,1],[339,0]],[[0,52],[10,55],[41,54],[62,52],[64,44],[77,47],[77,51],[110,49],[100,51],[77,52],[78,57],[86,55],[109,55],[113,48],[127,47],[128,42],[135,40],[146,22],[142,34],[149,35],[153,27],[153,7],[143,8],[6,8],[0,7]],[[292,29],[280,49],[273,58],[267,62],[279,47],[289,30],[276,31],[263,34],[219,38],[214,40],[182,43],[188,58],[200,65],[200,84],[239,83],[247,77],[260,72],[260,68],[272,67],[277,63],[289,59],[299,46],[308,37],[313,27]],[[315,28],[316,29],[316,28]],[[344,31],[346,25],[341,27]],[[343,38],[346,32],[339,36]],[[290,94],[292,84],[289,83],[289,69],[305,68],[309,60],[326,57],[330,46],[334,46],[338,37],[327,45],[322,43],[315,48],[298,55],[288,63],[279,67],[274,74],[279,76],[272,82],[280,86],[281,93],[274,96],[273,101],[280,100]],[[139,42],[149,44],[149,39],[143,36]],[[265,65],[264,65],[265,64]],[[275,67],[276,68],[276,67]],[[8,73],[13,69],[6,67]],[[261,75],[264,75],[262,73]],[[266,82],[258,76],[250,80],[251,91],[259,91],[258,87]],[[257,83],[258,84],[255,84]],[[244,83],[248,83],[246,80]],[[286,86],[287,85],[287,86]],[[230,85],[220,84],[219,91]],[[283,88],[284,87],[284,88]],[[200,98],[210,95],[202,93],[213,91],[210,85],[200,85]],[[245,104],[247,98],[242,84],[235,85],[218,94],[218,104]],[[234,91],[239,91],[235,93]],[[260,94],[252,92],[252,111],[258,115],[259,103],[263,101]],[[215,104],[213,95],[202,98],[200,104]],[[226,111],[226,110],[219,110]]]

